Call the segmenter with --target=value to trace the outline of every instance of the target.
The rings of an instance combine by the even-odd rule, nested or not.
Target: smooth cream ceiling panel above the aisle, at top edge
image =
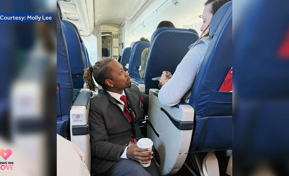
[[[132,20],[153,0],[95,0],[95,26],[99,24],[118,24],[124,19]]]

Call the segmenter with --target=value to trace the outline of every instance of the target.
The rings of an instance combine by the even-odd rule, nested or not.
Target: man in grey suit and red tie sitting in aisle
[[[149,96],[131,84],[129,74],[112,58],[85,69],[87,87],[95,91],[92,77],[103,91],[90,100],[91,173],[159,175],[151,149],[136,145],[143,138],[139,124]]]

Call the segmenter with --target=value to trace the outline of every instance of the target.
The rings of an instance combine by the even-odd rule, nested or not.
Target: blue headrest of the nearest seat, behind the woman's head
[[[209,36],[212,39],[224,15],[232,13],[232,1],[225,3],[213,16],[209,26]]]

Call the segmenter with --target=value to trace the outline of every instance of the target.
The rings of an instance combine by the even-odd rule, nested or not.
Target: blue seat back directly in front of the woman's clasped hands
[[[196,33],[193,29],[168,27],[159,28],[153,33],[144,72],[146,92],[149,92],[149,89],[159,88],[159,81],[151,79],[160,77],[162,71],[175,73],[177,66],[189,51],[188,47],[199,38]]]

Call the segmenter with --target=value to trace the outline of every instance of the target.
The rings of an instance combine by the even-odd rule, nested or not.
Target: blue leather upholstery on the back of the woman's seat
[[[212,41],[189,101],[195,110],[190,152],[232,147],[232,92],[218,92],[232,67],[232,1],[213,16],[209,33]]]

